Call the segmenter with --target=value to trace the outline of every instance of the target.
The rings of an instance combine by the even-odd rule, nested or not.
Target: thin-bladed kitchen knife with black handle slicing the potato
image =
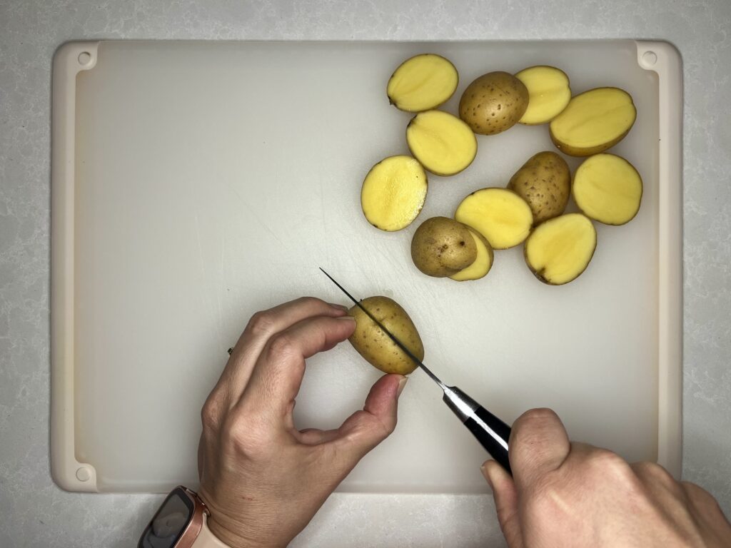
[[[431,370],[424,365],[420,359],[418,359],[412,351],[406,348],[406,345],[398,340],[384,325],[378,321],[370,311],[368,311],[359,301],[355,299],[347,290],[338,283],[333,276],[325,272],[320,268],[330,281],[338,286],[347,297],[355,302],[355,305],[366,313],[368,318],[374,321],[374,323],[382,330],[388,338],[393,340],[396,346],[403,350],[413,362],[418,365],[424,373],[426,373],[432,381],[439,385],[444,395],[442,401],[447,404],[452,412],[461,420],[462,424],[467,427],[472,435],[477,438],[482,447],[490,454],[493,459],[496,460],[505,470],[512,475],[510,470],[510,460],[508,460],[508,440],[510,439],[510,427],[501,421],[497,416],[493,415],[490,411],[482,407],[479,403],[473,400],[471,397],[466,395],[458,387],[447,387],[439,377],[434,375]]]

